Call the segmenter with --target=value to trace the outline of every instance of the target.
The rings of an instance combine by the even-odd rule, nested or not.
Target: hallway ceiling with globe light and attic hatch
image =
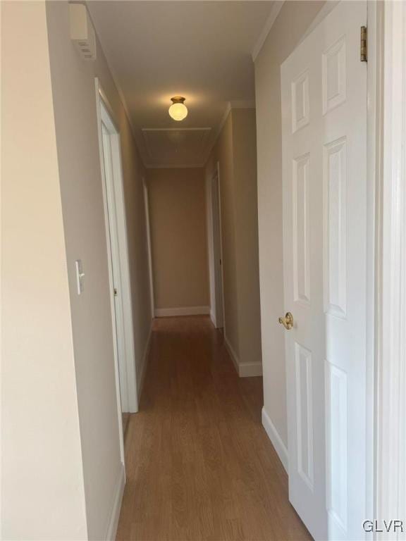
[[[254,104],[252,51],[272,1],[89,1],[147,167],[202,166],[230,106]],[[168,115],[184,96],[189,114]]]

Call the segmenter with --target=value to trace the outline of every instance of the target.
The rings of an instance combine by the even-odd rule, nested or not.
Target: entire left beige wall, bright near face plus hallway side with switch
[[[137,373],[152,318],[143,169],[101,47],[86,63],[70,41],[68,2],[2,9],[3,534],[99,540],[123,469],[94,77],[121,131]]]

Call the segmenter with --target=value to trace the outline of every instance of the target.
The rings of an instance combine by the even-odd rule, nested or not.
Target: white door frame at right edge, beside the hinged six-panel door
[[[384,519],[406,518],[405,2],[380,5],[377,20],[376,509],[370,518],[382,528]],[[392,530],[374,538],[405,534]]]

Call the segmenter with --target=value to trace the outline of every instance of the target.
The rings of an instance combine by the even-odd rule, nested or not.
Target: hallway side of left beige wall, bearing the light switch
[[[98,42],[97,61],[82,61],[70,41],[68,8],[65,1],[47,3],[49,56],[70,284],[87,528],[90,539],[102,539],[106,536],[122,466],[94,77],[99,78],[121,133],[138,375],[142,372],[152,320],[143,168],[101,46]],[[85,272],[85,291],[80,297],[75,290],[75,259],[82,260]]]

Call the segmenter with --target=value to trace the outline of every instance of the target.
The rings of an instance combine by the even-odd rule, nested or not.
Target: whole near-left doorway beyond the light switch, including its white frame
[[[116,357],[116,387],[121,410],[119,412],[121,430],[124,432],[128,413],[135,413],[138,410],[138,397],[120,133],[113,120],[109,104],[104,99],[98,84],[97,101],[107,252],[109,256],[111,317],[113,320]]]

